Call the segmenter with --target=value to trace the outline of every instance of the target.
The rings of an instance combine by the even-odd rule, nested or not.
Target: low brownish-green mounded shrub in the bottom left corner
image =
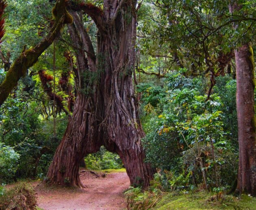
[[[0,209],[35,210],[35,191],[27,183],[19,183],[0,195]]]

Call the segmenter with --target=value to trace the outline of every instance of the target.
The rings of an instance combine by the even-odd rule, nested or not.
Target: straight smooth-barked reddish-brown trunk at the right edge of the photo
[[[239,138],[237,191],[256,195],[256,139],[254,113],[254,60],[248,44],[235,50],[236,108]]]

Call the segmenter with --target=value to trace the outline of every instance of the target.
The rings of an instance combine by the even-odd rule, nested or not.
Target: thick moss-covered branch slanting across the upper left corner
[[[66,0],[56,1],[52,9],[52,15],[55,22],[49,34],[35,47],[28,50],[24,49],[7,72],[5,80],[0,85],[0,106],[7,99],[9,93],[17,85],[20,78],[26,75],[27,69],[33,66],[39,56],[52,44],[65,24],[72,23],[73,21],[72,16],[66,10]]]

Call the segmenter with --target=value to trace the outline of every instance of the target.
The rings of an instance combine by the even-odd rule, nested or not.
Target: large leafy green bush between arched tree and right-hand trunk
[[[201,158],[207,185],[231,186],[238,158],[237,130],[232,129],[237,123],[230,119],[236,116],[235,90],[234,80],[226,76],[217,80],[207,99],[208,90],[201,77],[185,77],[182,72],[170,74],[161,91],[165,97],[160,97],[157,107],[148,109],[149,104],[143,104],[146,161],[162,172],[171,171],[173,179],[196,186],[202,183]],[[149,96],[144,93],[143,97]]]

